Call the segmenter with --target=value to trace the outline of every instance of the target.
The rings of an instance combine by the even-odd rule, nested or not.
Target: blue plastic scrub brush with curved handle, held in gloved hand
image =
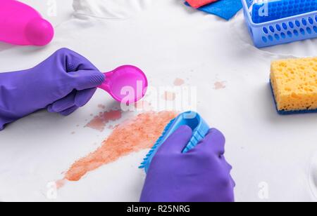
[[[209,125],[204,121],[204,119],[199,116],[196,112],[185,112],[180,114],[178,117],[170,121],[166,128],[163,130],[161,137],[156,141],[152,149],[149,151],[147,156],[144,158],[144,161],[141,163],[139,168],[144,168],[145,173],[149,170],[151,161],[156,154],[156,151],[159,150],[159,147],[172,135],[180,126],[189,126],[192,128],[192,139],[189,141],[182,153],[186,153],[190,149],[194,149],[197,144],[204,139],[204,137],[209,132]]]

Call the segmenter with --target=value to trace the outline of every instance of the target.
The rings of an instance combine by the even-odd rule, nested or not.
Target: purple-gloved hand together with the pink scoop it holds
[[[31,69],[0,73],[0,130],[39,109],[67,116],[87,104],[98,87],[120,102],[132,103],[144,96],[147,78],[129,65],[103,74],[67,48]]]

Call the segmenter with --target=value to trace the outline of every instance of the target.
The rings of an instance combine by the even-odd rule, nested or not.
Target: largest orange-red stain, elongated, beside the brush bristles
[[[166,125],[176,116],[175,112],[146,112],[121,123],[104,140],[99,149],[70,167],[65,180],[78,181],[88,172],[116,161],[122,156],[151,148]]]

